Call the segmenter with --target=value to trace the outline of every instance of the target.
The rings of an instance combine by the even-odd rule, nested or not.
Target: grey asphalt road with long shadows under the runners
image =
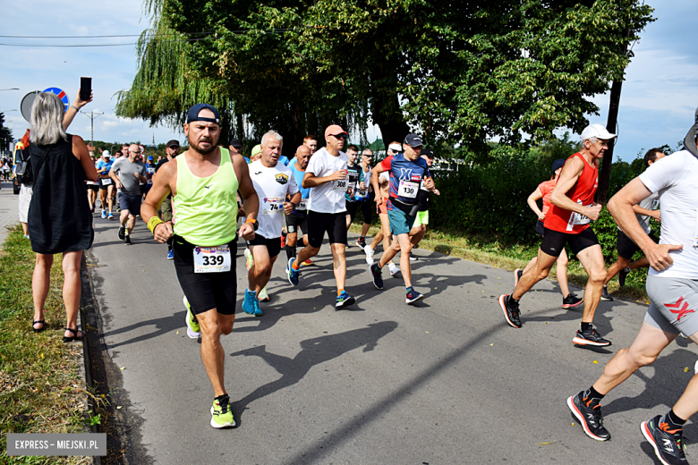
[[[240,308],[241,247],[237,321],[222,339],[238,427],[216,430],[213,391],[199,343],[185,334],[166,246],[140,221],[131,247],[118,240],[117,222],[96,216],[95,226],[89,270],[106,351],[123,368],[112,399],[123,406],[129,463],[659,463],[640,422],[667,411],[693,373],[695,350],[679,338],[605,399],[613,438],[597,443],[566,397],[633,341],[646,306],[601,302],[596,324],[613,346],[577,348],[582,310],[561,309],[553,282],[524,297],[524,327],[514,329],[497,303],[513,289],[512,272],[416,250],[414,285],[426,298],[411,307],[401,279],[373,287],[354,246],[347,290],[358,301],[337,311],[325,245],[297,288],[285,279],[282,251],[272,300],[261,304],[263,317],[250,317]],[[698,440],[693,424],[685,440]]]

